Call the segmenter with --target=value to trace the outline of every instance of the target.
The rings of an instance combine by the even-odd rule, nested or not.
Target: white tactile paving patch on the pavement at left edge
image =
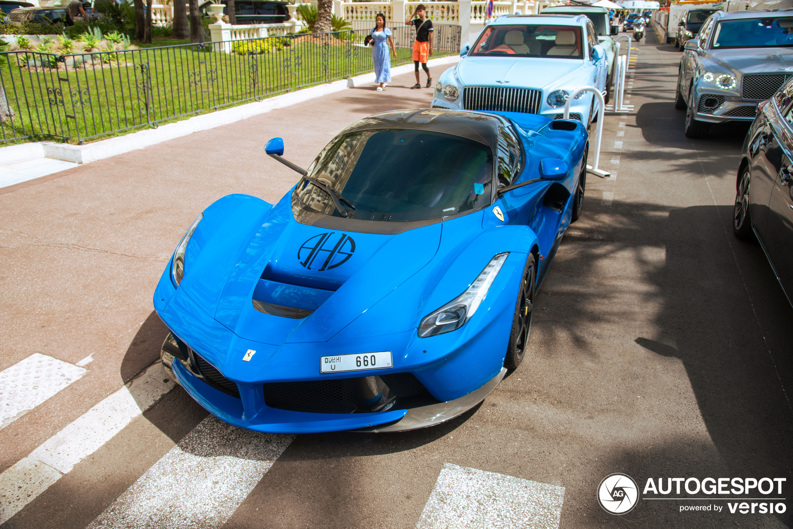
[[[86,371],[38,352],[0,371],[0,429],[79,380]]]

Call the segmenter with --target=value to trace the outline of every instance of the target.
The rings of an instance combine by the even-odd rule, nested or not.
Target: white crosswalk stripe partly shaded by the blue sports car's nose
[[[251,432],[210,415],[87,529],[220,527],[294,437]]]

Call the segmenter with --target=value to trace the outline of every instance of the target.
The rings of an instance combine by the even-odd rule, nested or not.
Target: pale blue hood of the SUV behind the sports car
[[[541,57],[465,57],[457,75],[466,86],[543,88],[582,68],[581,59]],[[487,81],[481,82],[482,79]],[[504,84],[497,83],[504,81]]]

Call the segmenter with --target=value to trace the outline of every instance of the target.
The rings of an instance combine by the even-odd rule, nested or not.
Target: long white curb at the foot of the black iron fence
[[[442,64],[456,63],[460,60],[458,55],[430,59],[427,66],[439,66]],[[393,67],[392,75],[407,74],[413,70],[412,64]],[[353,78],[342,79],[325,85],[312,86],[285,93],[280,96],[269,97],[263,101],[247,103],[225,110],[209,112],[201,116],[191,117],[190,119],[163,125],[155,129],[133,132],[117,138],[103,139],[86,145],[69,145],[67,143],[25,143],[24,145],[13,145],[11,147],[0,148],[0,163],[3,165],[33,160],[36,158],[53,158],[63,160],[63,162],[90,163],[110,158],[117,154],[124,154],[131,150],[143,149],[156,143],[162,143],[169,139],[181,138],[193,132],[205,131],[209,128],[220,127],[244,120],[251,116],[258,116],[264,112],[270,112],[276,108],[283,108],[295,105],[315,97],[322,97],[328,93],[339,92],[343,89],[362,86],[374,82],[374,72],[358,75]]]

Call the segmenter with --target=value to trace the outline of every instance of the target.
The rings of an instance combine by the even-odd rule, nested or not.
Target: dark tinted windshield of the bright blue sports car
[[[438,132],[358,131],[331,141],[308,176],[349,200],[351,219],[436,219],[490,204],[492,154],[482,143]],[[308,211],[339,216],[328,193],[305,179],[293,196]]]

